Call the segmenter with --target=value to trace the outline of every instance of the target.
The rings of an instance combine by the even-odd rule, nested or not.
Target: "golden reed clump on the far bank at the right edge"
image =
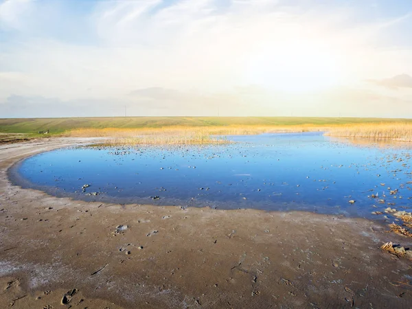
[[[412,124],[410,122],[381,122],[333,126],[326,135],[412,141]]]

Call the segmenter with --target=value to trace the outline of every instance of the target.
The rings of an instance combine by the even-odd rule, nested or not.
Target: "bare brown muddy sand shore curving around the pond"
[[[23,157],[87,141],[0,146],[1,308],[412,308],[412,262],[379,249],[411,240],[376,222],[86,203],[8,181]]]

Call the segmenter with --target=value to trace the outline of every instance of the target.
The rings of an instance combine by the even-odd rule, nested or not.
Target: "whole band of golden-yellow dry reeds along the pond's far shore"
[[[380,122],[334,125],[229,125],[229,126],[163,126],[159,128],[77,128],[65,137],[113,137],[119,143],[131,144],[210,144],[222,142],[214,135],[254,135],[260,133],[298,133],[324,131],[325,135],[350,138],[395,139],[412,141],[412,123]]]

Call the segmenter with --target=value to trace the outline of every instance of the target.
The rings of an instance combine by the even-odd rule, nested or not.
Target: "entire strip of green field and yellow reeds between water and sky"
[[[111,137],[114,144],[214,144],[224,135],[324,131],[338,137],[412,141],[412,119],[322,117],[96,117],[0,119],[0,134]],[[23,136],[21,135],[21,137]],[[0,138],[1,139],[1,138]]]

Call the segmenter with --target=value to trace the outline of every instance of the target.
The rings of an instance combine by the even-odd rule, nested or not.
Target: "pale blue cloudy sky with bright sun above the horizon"
[[[0,118],[412,118],[411,0],[0,0]]]

